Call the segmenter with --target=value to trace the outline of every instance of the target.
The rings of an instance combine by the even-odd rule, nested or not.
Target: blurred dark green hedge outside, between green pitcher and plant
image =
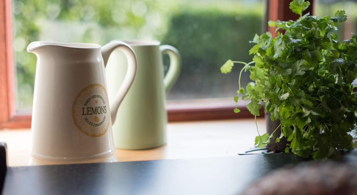
[[[240,67],[223,75],[220,66],[228,59],[251,61],[248,51],[252,44],[248,41],[261,31],[262,16],[256,14],[222,11],[175,14],[162,44],[175,46],[180,51],[182,71],[168,99],[233,97],[238,89]],[[247,82],[249,77],[244,74],[242,85]]]

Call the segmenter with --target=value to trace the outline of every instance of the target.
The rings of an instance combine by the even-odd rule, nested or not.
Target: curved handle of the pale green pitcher
[[[160,51],[162,55],[168,54],[170,57],[169,70],[164,78],[165,92],[168,94],[178,79],[178,75],[180,75],[181,55],[178,50],[171,45],[161,45]]]

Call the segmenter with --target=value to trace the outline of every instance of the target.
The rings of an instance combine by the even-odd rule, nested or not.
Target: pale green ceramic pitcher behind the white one
[[[124,41],[137,57],[136,78],[122,101],[113,125],[114,143],[122,149],[149,149],[166,143],[166,94],[175,84],[181,70],[181,57],[170,45],[159,41]],[[162,56],[168,54],[170,66],[164,77]],[[108,61],[106,79],[109,100],[115,98],[124,80],[126,57],[114,51]]]

